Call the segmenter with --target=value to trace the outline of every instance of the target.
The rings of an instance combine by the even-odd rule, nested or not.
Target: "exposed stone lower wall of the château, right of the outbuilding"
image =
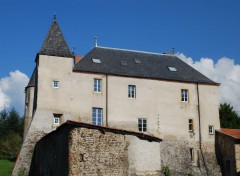
[[[193,160],[190,148],[194,149]],[[194,176],[205,176],[206,170],[208,176],[221,175],[213,144],[203,144],[201,153],[198,142],[163,141],[160,150],[162,166],[168,166],[173,175],[185,176],[192,173]]]

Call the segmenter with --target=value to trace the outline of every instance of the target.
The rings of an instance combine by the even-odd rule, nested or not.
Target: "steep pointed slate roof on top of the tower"
[[[73,57],[54,15],[53,22],[39,54],[60,57]]]

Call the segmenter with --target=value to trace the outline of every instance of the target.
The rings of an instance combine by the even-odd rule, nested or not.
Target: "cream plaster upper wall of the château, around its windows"
[[[62,122],[67,114],[91,122],[92,107],[99,107],[103,108],[103,125],[107,121],[111,127],[138,131],[138,118],[146,118],[149,134],[167,140],[199,140],[196,84],[119,76],[107,76],[106,82],[105,75],[72,72],[72,68],[72,58],[39,58],[37,111],[49,113],[49,124],[53,113],[63,114]],[[102,79],[101,93],[93,90],[94,78]],[[52,86],[54,80],[59,81],[58,89]],[[136,86],[135,99],[128,98],[128,85]],[[181,101],[181,89],[188,90],[188,102]],[[208,126],[220,127],[218,86],[199,85],[199,95],[202,138],[213,142]],[[194,121],[194,133],[189,133],[189,119]]]

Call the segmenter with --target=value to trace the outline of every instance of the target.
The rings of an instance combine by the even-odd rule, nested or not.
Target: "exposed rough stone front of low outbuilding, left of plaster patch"
[[[75,128],[70,134],[70,176],[127,176],[128,153],[124,135]]]

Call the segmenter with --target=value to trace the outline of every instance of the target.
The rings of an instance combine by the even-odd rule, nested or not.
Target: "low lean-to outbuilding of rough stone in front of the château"
[[[138,132],[67,121],[37,142],[29,175],[157,176],[160,153],[149,148],[155,150],[160,141]]]

